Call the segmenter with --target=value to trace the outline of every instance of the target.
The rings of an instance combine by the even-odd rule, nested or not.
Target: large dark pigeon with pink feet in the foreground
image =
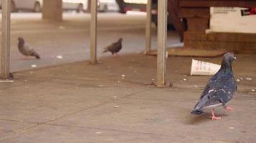
[[[232,110],[232,107],[227,106],[227,104],[237,90],[236,80],[232,71],[232,62],[235,60],[236,57],[233,53],[227,52],[224,54],[221,69],[209,79],[191,114],[203,114],[204,109],[211,109],[211,119],[214,120],[221,119],[221,117],[215,116],[215,107],[223,106],[227,111]]]

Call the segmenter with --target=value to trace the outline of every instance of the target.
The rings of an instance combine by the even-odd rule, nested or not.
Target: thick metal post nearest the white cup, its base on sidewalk
[[[165,86],[166,38],[167,38],[167,1],[158,1],[157,16],[157,87]]]

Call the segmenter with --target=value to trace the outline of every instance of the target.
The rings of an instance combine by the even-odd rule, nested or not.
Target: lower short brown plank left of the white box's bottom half
[[[187,18],[188,31],[205,31],[209,29],[209,18]]]

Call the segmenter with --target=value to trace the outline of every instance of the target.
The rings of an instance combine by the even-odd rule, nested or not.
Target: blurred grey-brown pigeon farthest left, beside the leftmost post
[[[40,55],[37,54],[34,49],[30,48],[24,41],[22,37],[18,38],[18,49],[24,56],[35,56],[37,59],[40,59]]]

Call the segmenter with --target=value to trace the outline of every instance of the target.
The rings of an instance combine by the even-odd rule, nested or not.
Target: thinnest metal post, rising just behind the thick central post
[[[152,0],[147,0],[147,21],[146,21],[146,49],[145,54],[149,54],[151,50],[151,10]]]

